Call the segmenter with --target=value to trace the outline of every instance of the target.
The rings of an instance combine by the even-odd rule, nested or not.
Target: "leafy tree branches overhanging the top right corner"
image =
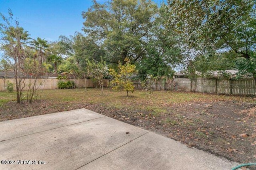
[[[255,0],[169,0],[166,28],[201,52],[233,53],[236,69],[256,80]]]

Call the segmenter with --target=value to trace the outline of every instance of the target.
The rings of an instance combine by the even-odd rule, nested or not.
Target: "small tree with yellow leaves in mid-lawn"
[[[114,78],[114,80],[110,82],[110,86],[112,86],[113,90],[123,89],[126,91],[128,96],[128,92],[134,92],[131,76],[136,73],[136,66],[134,64],[130,64],[130,60],[128,58],[126,58],[125,61],[126,63],[124,65],[119,63],[118,72],[114,69],[109,69],[110,75]]]

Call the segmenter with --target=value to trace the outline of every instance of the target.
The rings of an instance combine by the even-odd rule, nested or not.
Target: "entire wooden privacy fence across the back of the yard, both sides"
[[[29,89],[29,84],[32,84],[35,79],[27,78],[24,83],[26,86],[24,90]],[[76,87],[84,88],[85,82],[83,79],[68,79],[75,82]],[[68,81],[62,80],[62,81]],[[36,88],[44,89],[57,89],[57,82],[60,81],[55,78],[37,79]],[[14,78],[0,78],[0,91],[5,91],[8,82],[15,84]],[[110,80],[104,80],[104,87],[109,86]],[[98,82],[87,80],[87,87],[96,87]],[[142,89],[140,81],[134,81],[136,89]],[[254,79],[246,78],[240,80],[220,80],[216,78],[174,78],[168,81],[160,80],[152,84],[152,90],[173,90],[173,91],[186,91],[186,92],[202,92],[212,94],[235,94],[235,95],[255,95],[255,81]],[[15,90],[15,86],[14,86]]]

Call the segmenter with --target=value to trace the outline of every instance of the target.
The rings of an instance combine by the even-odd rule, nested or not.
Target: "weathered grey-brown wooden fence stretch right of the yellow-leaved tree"
[[[134,83],[142,89],[140,81]],[[216,78],[174,78],[168,82],[160,80],[152,85],[152,90],[173,90],[186,92],[202,92],[211,94],[255,95],[255,81],[252,78],[240,80],[221,80]]]

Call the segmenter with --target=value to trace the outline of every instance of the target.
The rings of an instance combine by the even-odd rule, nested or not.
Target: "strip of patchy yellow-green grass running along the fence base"
[[[40,91],[41,92],[41,91]],[[26,96],[26,91],[23,92]],[[16,93],[0,92],[0,104],[16,100]],[[136,108],[151,111],[158,115],[166,113],[169,104],[184,103],[190,101],[242,101],[256,103],[254,98],[239,96],[224,96],[201,93],[154,91],[149,94],[146,91],[136,90],[126,96],[124,91],[113,91],[111,88],[104,88],[101,94],[100,88],[85,89],[54,89],[42,90],[41,100],[50,102],[83,102],[88,104],[102,104],[115,108]],[[181,119],[181,117],[179,117]]]

